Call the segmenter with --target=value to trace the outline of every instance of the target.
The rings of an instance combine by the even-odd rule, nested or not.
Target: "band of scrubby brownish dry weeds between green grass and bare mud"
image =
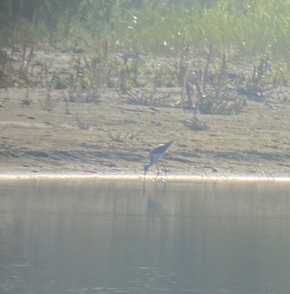
[[[30,89],[40,87],[46,91],[39,99],[40,108],[53,112],[58,103],[64,103],[68,115],[72,114],[70,103],[99,104],[100,90],[113,88],[125,103],[190,111],[193,118],[184,124],[193,130],[208,128],[198,115],[237,115],[248,99],[270,101],[267,93],[281,85],[287,87],[289,80],[286,70],[274,68],[267,55],[259,56],[253,66],[241,72],[225,53],[214,52],[212,46],[203,58],[190,46],[184,46],[177,58],[150,58],[141,51],[115,55],[104,41],[95,56],[89,57],[77,50],[76,42],[70,60],[62,67],[56,66],[53,57],[40,61],[37,54],[27,41],[0,51],[0,87],[25,88],[21,106],[34,106]],[[277,91],[276,97],[276,103],[289,103],[283,91]],[[89,129],[75,117],[81,129]]]

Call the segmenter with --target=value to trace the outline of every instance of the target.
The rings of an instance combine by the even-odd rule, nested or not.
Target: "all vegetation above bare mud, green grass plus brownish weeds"
[[[285,0],[6,0],[0,8],[2,88],[68,89],[70,100],[96,101],[108,87],[159,106],[166,95],[156,89],[178,87],[175,106],[237,114],[246,98],[264,100],[290,78]],[[35,62],[39,49],[71,52],[70,68]]]

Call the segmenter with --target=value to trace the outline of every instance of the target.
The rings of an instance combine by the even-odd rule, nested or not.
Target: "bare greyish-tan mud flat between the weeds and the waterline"
[[[171,174],[289,177],[289,104],[248,100],[238,115],[198,115],[207,128],[194,131],[193,114],[174,106],[179,89],[161,91],[168,101],[150,108],[114,89],[82,102],[54,89],[47,110],[45,89],[30,89],[30,103],[24,88],[1,89],[0,174],[142,174],[151,149],[173,140],[165,156]]]

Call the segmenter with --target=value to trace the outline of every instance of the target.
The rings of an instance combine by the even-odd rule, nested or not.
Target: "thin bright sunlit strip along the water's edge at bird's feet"
[[[94,179],[109,181],[143,181],[140,174],[0,174],[0,180],[8,179]],[[154,175],[146,176],[145,181],[153,181]],[[157,182],[162,182],[163,177],[158,177]],[[239,176],[239,175],[188,175],[172,174],[166,177],[166,181],[285,181],[290,182],[290,177],[263,177],[263,176]]]

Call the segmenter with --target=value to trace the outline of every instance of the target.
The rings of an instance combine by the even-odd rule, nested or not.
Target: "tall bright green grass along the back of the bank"
[[[26,39],[61,48],[77,42],[87,49],[106,41],[113,51],[142,49],[159,55],[175,53],[184,45],[202,50],[208,44],[222,51],[289,54],[289,0],[135,2],[74,1],[70,11],[48,17],[49,9],[56,8],[38,7],[34,17],[13,22],[0,15],[0,46]]]

